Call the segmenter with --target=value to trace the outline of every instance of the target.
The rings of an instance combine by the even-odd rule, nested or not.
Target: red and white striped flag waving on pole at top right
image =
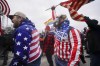
[[[66,2],[61,2],[60,5],[68,8],[72,19],[77,21],[85,21],[84,16],[82,14],[78,14],[78,10],[87,3],[90,3],[94,0],[68,0]]]

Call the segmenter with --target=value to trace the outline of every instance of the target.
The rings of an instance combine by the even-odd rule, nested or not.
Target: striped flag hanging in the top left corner
[[[0,0],[0,35],[2,33],[1,29],[1,15],[9,15],[10,8],[6,0]]]

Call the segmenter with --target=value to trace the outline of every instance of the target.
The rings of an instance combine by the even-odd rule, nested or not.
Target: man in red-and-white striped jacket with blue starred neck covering
[[[66,15],[61,15],[54,23],[55,29],[55,62],[56,66],[76,66],[80,60],[80,32],[69,26]]]

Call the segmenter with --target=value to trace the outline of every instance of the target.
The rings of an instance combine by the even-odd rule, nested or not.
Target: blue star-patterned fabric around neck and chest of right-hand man
[[[59,41],[66,40],[68,37],[69,21],[65,20],[61,27],[56,29],[55,36]]]

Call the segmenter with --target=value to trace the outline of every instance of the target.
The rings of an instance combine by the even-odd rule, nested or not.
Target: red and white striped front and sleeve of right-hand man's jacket
[[[80,33],[76,29],[70,30],[69,39],[66,42],[60,42],[55,37],[55,54],[62,60],[69,60],[68,66],[75,66],[80,60],[81,46]]]

